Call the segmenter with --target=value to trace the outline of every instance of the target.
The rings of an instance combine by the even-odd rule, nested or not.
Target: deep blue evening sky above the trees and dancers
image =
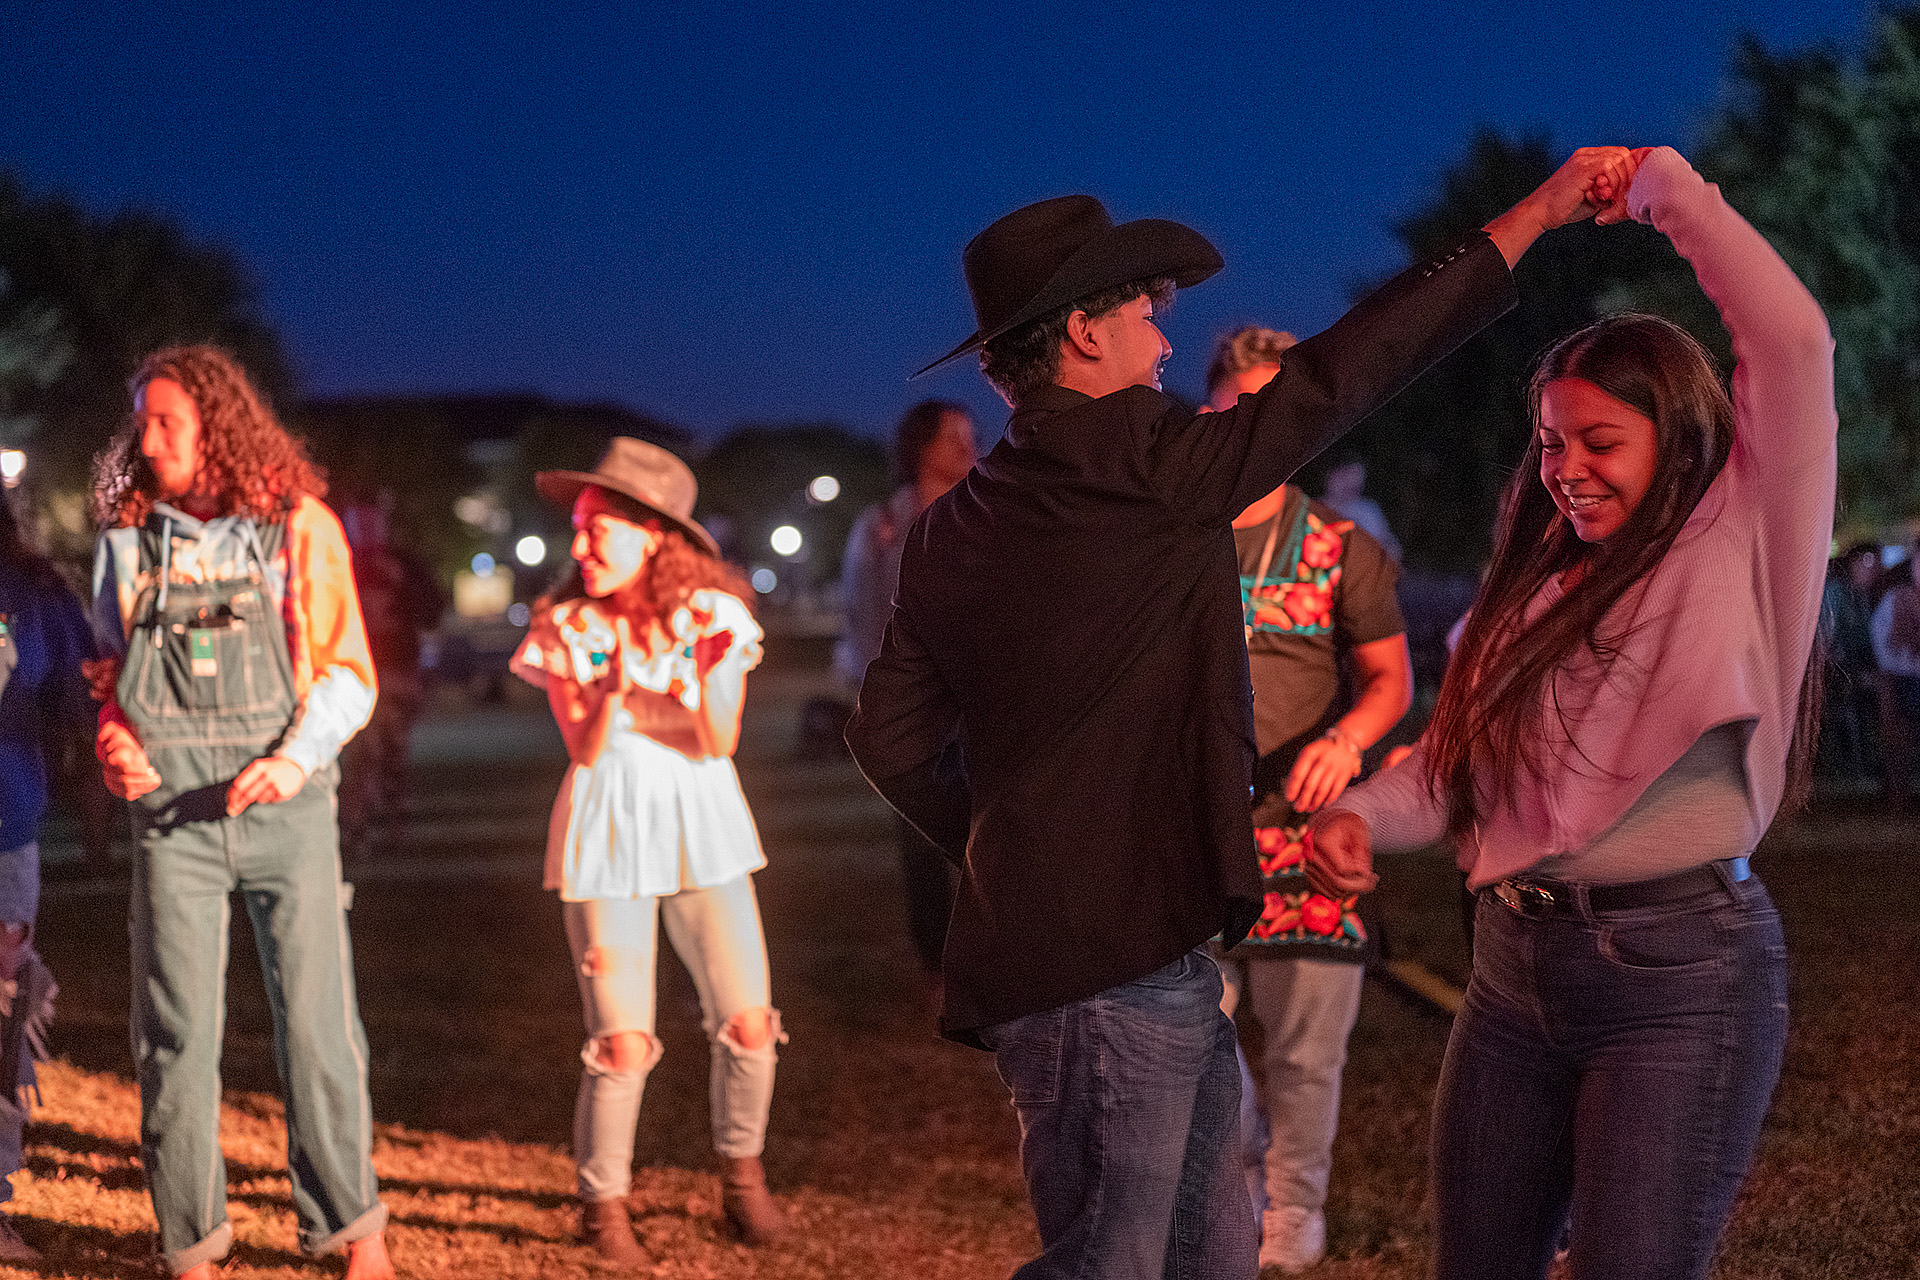
[[[311,393],[532,390],[712,438],[1004,409],[960,248],[1085,190],[1227,271],[1212,336],[1300,334],[1476,125],[1695,136],[1734,38],[1857,50],[1859,0],[1695,4],[96,6],[0,0],[0,167],[234,249]]]

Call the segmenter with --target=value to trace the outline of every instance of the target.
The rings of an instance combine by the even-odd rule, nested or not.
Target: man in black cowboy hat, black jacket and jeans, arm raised
[[[979,328],[935,365],[981,351],[1014,416],[908,533],[847,743],[964,869],[941,1029],[996,1054],[1020,1111],[1043,1242],[1020,1276],[1254,1274],[1204,950],[1261,910],[1231,520],[1507,311],[1526,246],[1630,171],[1576,152],[1204,416],[1160,393],[1152,322],[1219,271],[1198,232],[1066,196],[966,248]]]

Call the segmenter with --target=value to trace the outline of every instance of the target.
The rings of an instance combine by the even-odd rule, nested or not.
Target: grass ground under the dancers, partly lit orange
[[[758,877],[781,1057],[768,1169],[793,1240],[716,1230],[707,1054],[685,973],[662,961],[668,1055],[647,1086],[634,1207],[659,1276],[1004,1276],[1035,1236],[1006,1092],[981,1054],[931,1034],[899,910],[885,810],[841,760],[801,760],[810,677],[768,672],[749,699],[741,773],[770,865]],[[540,706],[449,702],[422,731],[417,808],[355,873],[353,936],[372,1042],[374,1151],[407,1276],[591,1276],[572,1240],[566,1155],[582,1029],[566,942],[540,890],[559,777]],[[1920,885],[1912,821],[1820,812],[1757,865],[1788,919],[1793,1034],[1722,1280],[1920,1274]],[[1465,977],[1452,869],[1386,867],[1396,954]],[[225,1148],[238,1247],[227,1272],[338,1274],[294,1247],[265,998],[234,929]],[[48,1253],[0,1276],[146,1276],[152,1215],[129,1082],[125,885],[50,887],[40,942],[61,981],[46,1105],[15,1178],[23,1234]],[[1448,1021],[1369,983],[1346,1075],[1325,1280],[1425,1274],[1427,1107]]]

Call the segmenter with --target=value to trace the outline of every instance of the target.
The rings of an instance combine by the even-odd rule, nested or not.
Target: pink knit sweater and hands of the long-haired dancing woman
[[[1741,848],[1759,842],[1786,789],[1834,528],[1834,338],[1772,246],[1670,148],[1640,165],[1628,207],[1692,263],[1734,336],[1734,451],[1667,557],[1607,616],[1605,631],[1626,639],[1605,677],[1584,649],[1555,677],[1572,725],[1574,745],[1551,743],[1565,764],[1544,783],[1523,775],[1511,806],[1494,808],[1482,789],[1484,816],[1459,850],[1473,887],[1603,835],[1718,725],[1745,731]],[[1528,616],[1557,597],[1548,583]],[[1561,716],[1546,723],[1559,737]],[[1446,829],[1425,779],[1417,747],[1327,812],[1365,818],[1379,852],[1417,848]]]

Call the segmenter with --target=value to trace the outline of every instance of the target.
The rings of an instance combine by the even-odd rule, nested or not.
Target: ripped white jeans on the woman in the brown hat
[[[714,1151],[726,1157],[758,1155],[774,1100],[776,1046],[785,1034],[780,1011],[772,1009],[753,879],[741,875],[712,889],[682,889],[659,898],[588,898],[563,908],[588,1029],[580,1052],[586,1071],[574,1105],[582,1199],[616,1199],[632,1184],[639,1098],[647,1073],[664,1052],[653,1031],[662,921],[701,998],[701,1027],[712,1054],[708,1105]],[[770,1036],[758,1048],[741,1044],[735,1023],[735,1015],[753,1009],[768,1009]],[[645,1032],[647,1059],[637,1071],[614,1071],[603,1059],[601,1038],[628,1031]]]

